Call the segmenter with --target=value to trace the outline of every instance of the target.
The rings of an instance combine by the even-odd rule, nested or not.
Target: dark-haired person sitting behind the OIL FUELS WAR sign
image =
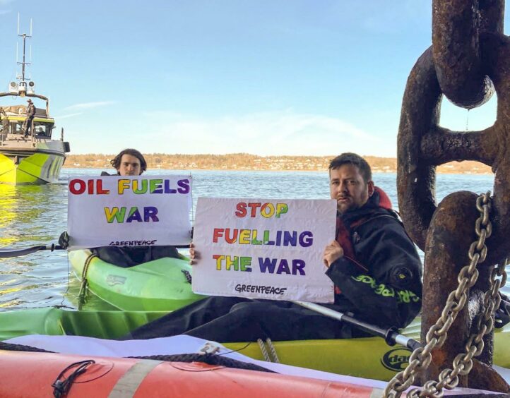
[[[112,167],[117,170],[117,176],[140,176],[147,170],[147,162],[141,152],[133,148],[127,148],[110,161]],[[111,174],[102,171],[102,176]],[[59,245],[63,248],[69,246],[69,235],[63,232],[59,237]],[[101,260],[117,265],[118,267],[134,267],[157,260],[158,258],[171,257],[181,258],[174,246],[106,246],[90,249]]]

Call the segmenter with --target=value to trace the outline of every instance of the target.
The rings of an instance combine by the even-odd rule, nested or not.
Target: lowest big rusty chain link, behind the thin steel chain
[[[441,314],[450,291],[458,286],[456,275],[466,265],[466,255],[470,242],[476,241],[475,221],[479,216],[476,209],[477,195],[461,191],[446,196],[432,217],[427,234],[425,263],[429,265],[423,276],[422,342],[425,342],[430,325],[434,325]],[[470,335],[473,319],[482,310],[483,292],[490,281],[490,267],[478,267],[480,275],[470,289],[469,306],[461,311],[448,332],[445,344],[432,351],[432,362],[420,374],[422,383],[437,378],[441,370],[451,368],[455,356],[464,351]],[[484,337],[485,347],[478,361],[492,366],[494,345],[492,334]],[[461,376],[459,385],[482,390],[509,392],[509,385],[492,368],[477,363],[478,372]],[[490,385],[488,381],[490,380]]]

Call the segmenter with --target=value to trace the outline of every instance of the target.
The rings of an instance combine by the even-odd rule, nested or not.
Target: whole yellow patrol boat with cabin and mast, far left
[[[35,109],[30,134],[25,135],[22,126],[27,119],[27,106],[24,104],[0,104],[0,183],[9,185],[40,185],[54,183],[59,179],[60,169],[69,152],[69,143],[64,141],[64,129],[59,140],[52,140],[55,128],[54,119],[49,116],[49,99],[35,93],[35,85],[25,76],[25,40],[23,38],[23,61],[18,82],[9,84],[8,92],[0,92],[0,97],[16,97],[42,100],[45,107]]]

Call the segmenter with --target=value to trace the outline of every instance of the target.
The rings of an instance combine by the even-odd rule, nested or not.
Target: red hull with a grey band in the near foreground
[[[369,398],[375,396],[374,390],[380,393],[373,387],[352,382],[226,368],[198,361],[162,362],[19,351],[0,351],[0,357],[0,396],[11,398]],[[81,361],[88,363],[78,373],[76,370]],[[64,372],[69,366],[71,369]],[[54,394],[57,377],[69,383],[66,386],[69,390],[64,394]]]

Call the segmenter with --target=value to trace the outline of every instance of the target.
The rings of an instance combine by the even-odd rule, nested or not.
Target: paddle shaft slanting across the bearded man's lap
[[[352,318],[352,316],[345,315],[344,313],[339,313],[338,311],[332,310],[331,308],[319,306],[319,304],[316,303],[308,303],[307,301],[297,300],[293,300],[292,303],[295,303],[304,308],[308,308],[309,310],[315,311],[317,313],[321,313],[322,315],[326,315],[330,318],[335,318],[343,322],[347,322],[348,324],[353,325],[358,329],[364,330],[364,332],[374,334],[375,336],[383,337],[386,343],[389,344],[390,346],[393,346],[395,344],[401,344],[402,346],[408,347],[413,351],[418,347],[422,346],[422,344],[420,342],[417,342],[415,339],[411,339],[410,337],[406,337],[403,334],[398,333],[396,327],[384,329],[382,327],[372,325],[362,320],[357,320],[356,318]]]

